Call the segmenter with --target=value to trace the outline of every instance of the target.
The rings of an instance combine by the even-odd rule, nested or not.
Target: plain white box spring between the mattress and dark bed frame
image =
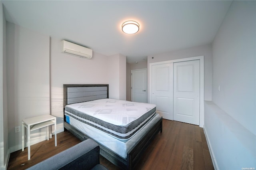
[[[101,130],[98,130],[90,125],[84,124],[72,117],[70,117],[69,119],[70,125],[72,125],[76,129],[79,129],[81,132],[83,132],[90,138],[96,140],[106,148],[109,148],[122,158],[126,159],[127,151],[129,151],[132,148],[132,146],[134,146],[136,142],[141,138],[141,136],[148,132],[149,128],[152,125],[154,125],[160,118],[160,115],[156,114],[155,117],[150,122],[144,125],[144,127],[141,128],[140,131],[138,131],[136,134],[134,134],[134,136],[132,136],[132,138],[130,138],[129,140],[119,140]]]

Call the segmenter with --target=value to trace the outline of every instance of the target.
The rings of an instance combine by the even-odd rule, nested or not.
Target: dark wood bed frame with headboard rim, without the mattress
[[[84,84],[64,84],[63,85],[63,107],[68,104],[68,88],[69,87],[107,87],[107,94],[105,95],[108,98],[108,85],[107,84],[98,84],[98,85],[84,85]],[[91,98],[86,99],[86,101],[89,101]],[[86,136],[86,134],[80,132],[78,129],[72,127],[66,122],[66,118],[64,115],[64,129],[70,131],[72,134],[74,134],[76,137],[78,137],[80,140],[86,140],[90,137]],[[143,154],[143,152],[146,150],[150,142],[153,140],[154,136],[158,134],[158,132],[162,132],[162,117],[158,120],[154,126],[148,130],[148,133],[144,134],[142,136],[141,140],[139,140],[130,150],[127,151],[127,158],[124,159],[117,155],[116,153],[112,152],[110,149],[106,148],[105,146],[102,146],[100,143],[97,143],[100,145],[100,154],[105,157],[107,160],[115,164],[116,166],[126,169],[126,170],[132,170],[136,167],[136,164],[140,160],[140,156]]]

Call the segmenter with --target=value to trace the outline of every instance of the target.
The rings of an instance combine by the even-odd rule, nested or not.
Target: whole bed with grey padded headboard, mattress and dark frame
[[[137,106],[135,105],[144,104],[109,99],[107,84],[64,84],[63,92],[64,129],[72,132],[80,140],[92,138],[100,145],[100,154],[122,169],[134,169],[140,155],[146,150],[154,136],[159,131],[162,132],[162,117],[155,112],[155,108],[150,104],[145,104],[146,113],[138,116],[138,119],[134,116],[131,116],[134,119],[132,121],[120,118],[125,125],[119,126],[118,121],[120,120],[117,114],[123,114],[120,110],[122,106],[129,106],[130,114],[136,110]],[[101,109],[94,110],[95,108],[92,106],[100,106],[101,103],[107,104],[104,104]],[[113,107],[114,103],[118,103],[121,107]],[[92,115],[81,114],[83,109],[92,109]],[[115,118],[111,119],[110,123],[97,118],[98,115],[103,117],[110,115],[110,112]]]

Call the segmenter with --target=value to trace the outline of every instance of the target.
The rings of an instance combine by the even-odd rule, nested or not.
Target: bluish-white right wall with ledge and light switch
[[[256,2],[233,1],[212,44],[204,130],[215,169],[256,168]]]

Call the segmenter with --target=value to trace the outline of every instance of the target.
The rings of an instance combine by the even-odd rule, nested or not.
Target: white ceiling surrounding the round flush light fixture
[[[232,1],[2,1],[6,20],[132,63],[211,43]],[[140,24],[124,34],[126,20]]]

